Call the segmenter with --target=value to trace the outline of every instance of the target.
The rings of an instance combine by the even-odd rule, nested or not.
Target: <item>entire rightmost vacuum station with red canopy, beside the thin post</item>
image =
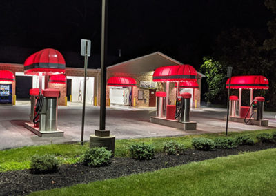
[[[229,79],[226,82],[229,88]],[[253,90],[267,90],[268,79],[262,75],[234,76],[231,77],[230,89],[239,89],[239,97],[229,97],[229,120],[243,122],[244,124],[255,124],[268,126],[268,120],[263,119],[264,97],[254,97]],[[242,90],[250,90],[249,106],[242,106]]]

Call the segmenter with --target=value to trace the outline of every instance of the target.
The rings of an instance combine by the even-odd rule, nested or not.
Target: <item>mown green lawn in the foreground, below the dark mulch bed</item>
[[[276,149],[30,195],[276,195]]]

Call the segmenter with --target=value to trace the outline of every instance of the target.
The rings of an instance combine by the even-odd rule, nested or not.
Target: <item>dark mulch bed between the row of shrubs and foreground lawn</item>
[[[73,184],[144,173],[188,164],[192,161],[203,161],[227,155],[237,155],[240,152],[253,152],[268,148],[276,148],[276,144],[255,144],[254,146],[239,146],[235,149],[214,151],[189,149],[186,150],[186,155],[168,156],[161,153],[150,161],[116,157],[112,159],[112,163],[109,166],[89,168],[81,164],[63,165],[60,167],[59,172],[44,175],[31,174],[30,170],[0,173],[0,195],[27,195],[37,190],[61,188]]]

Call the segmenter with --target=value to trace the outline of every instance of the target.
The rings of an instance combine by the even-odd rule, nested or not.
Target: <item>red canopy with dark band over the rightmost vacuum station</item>
[[[229,79],[226,82],[226,88],[229,88]],[[262,75],[233,76],[231,88],[268,89],[268,79]]]

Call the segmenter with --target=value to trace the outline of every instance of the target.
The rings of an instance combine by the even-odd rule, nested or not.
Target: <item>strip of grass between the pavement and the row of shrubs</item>
[[[258,133],[266,132],[272,133],[274,130],[255,130],[244,131],[239,133],[229,133],[228,137],[235,137],[237,135],[250,135],[252,139],[256,140]],[[204,135],[186,135],[181,137],[153,137],[144,139],[122,139],[116,141],[115,156],[125,157],[128,154],[128,147],[135,142],[144,142],[146,144],[152,144],[155,146],[155,151],[161,152],[162,146],[165,141],[174,139],[186,147],[191,147],[191,140],[195,137],[208,137],[215,139],[216,137],[225,137],[225,133],[208,133]],[[79,155],[81,155],[86,149],[88,149],[88,143],[84,146],[79,144],[49,144],[43,146],[26,146],[23,148],[13,148],[10,150],[0,150],[0,172],[8,170],[23,170],[30,167],[30,158],[32,155],[39,154],[52,154],[57,156],[62,164],[72,164],[78,161]]]

